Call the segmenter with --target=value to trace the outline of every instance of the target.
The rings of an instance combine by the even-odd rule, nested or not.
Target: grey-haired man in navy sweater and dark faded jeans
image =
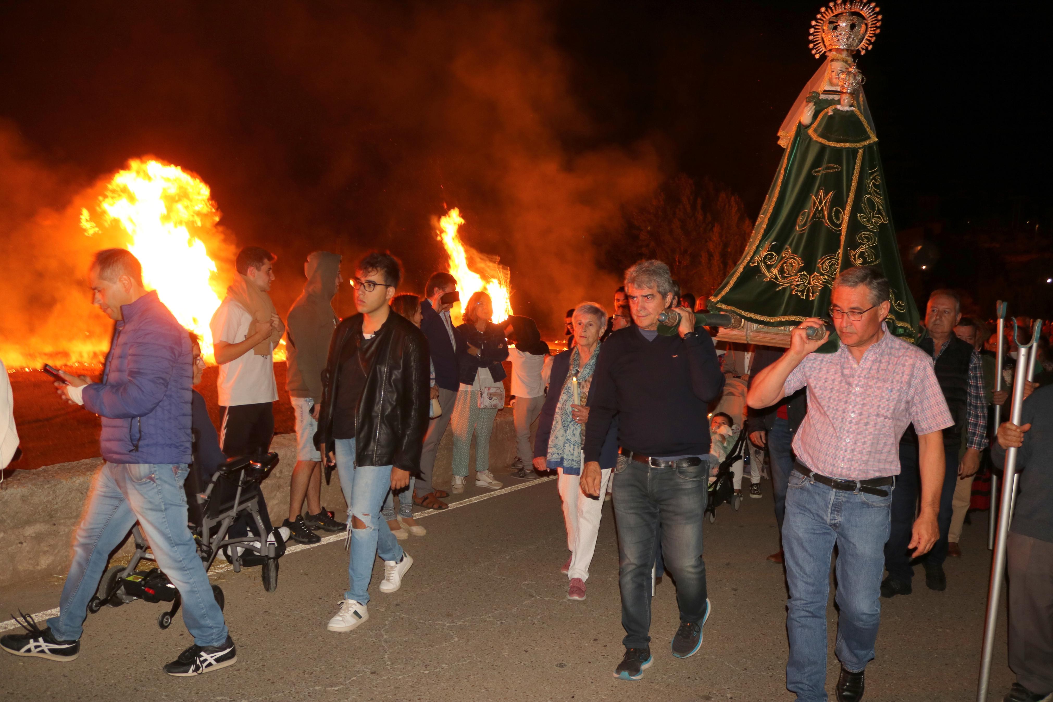
[[[581,490],[598,496],[603,439],[618,416],[618,444],[629,461],[614,468],[618,578],[625,656],[614,670],[639,680],[651,665],[651,568],[661,527],[661,553],[676,579],[680,626],[673,655],[693,656],[710,614],[702,561],[710,452],[708,404],[720,396],[723,374],[713,340],[695,330],[695,315],[678,307],[673,336],[658,334],[658,315],[676,304],[675,283],[661,261],[640,261],[625,272],[635,326],[614,332],[600,348],[585,425]],[[623,467],[621,467],[623,466]]]

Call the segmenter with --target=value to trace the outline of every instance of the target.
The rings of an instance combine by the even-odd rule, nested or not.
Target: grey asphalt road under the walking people
[[[506,482],[511,485],[512,481]],[[770,483],[764,497],[724,505],[706,525],[713,614],[698,655],[669,653],[677,625],[673,585],[653,607],[655,664],[639,682],[612,677],[621,658],[617,546],[604,507],[588,599],[565,599],[565,536],[554,481],[496,495],[421,520],[423,538],[403,542],[414,559],[402,588],[381,595],[374,568],[370,620],[334,634],[325,623],[346,587],[347,556],[330,543],[287,554],[278,590],[259,569],[214,578],[226,596],[236,665],[194,679],[161,665],[191,644],[177,616],[156,625],[160,605],[135,602],[88,617],[71,663],[0,654],[4,700],[791,700],[784,689],[786,590]],[[470,487],[463,496],[483,494]],[[915,578],[914,594],[882,600],[877,658],[867,669],[868,702],[975,699],[990,556],[986,518],[966,527],[965,556],[948,562],[945,593]],[[0,589],[0,613],[42,611],[58,602],[61,577]],[[832,606],[829,618],[836,621]],[[992,699],[1013,680],[1005,610]],[[830,628],[833,650],[834,627]],[[830,655],[828,688],[837,664]]]

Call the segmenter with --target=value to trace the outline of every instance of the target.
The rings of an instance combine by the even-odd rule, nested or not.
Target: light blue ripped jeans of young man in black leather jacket
[[[336,467],[340,472],[340,489],[347,501],[347,528],[351,529],[351,563],[347,564],[351,589],[343,598],[365,604],[370,601],[370,578],[377,556],[385,561],[402,560],[402,546],[398,545],[380,514],[384,498],[392,489],[392,466],[355,465],[354,439],[336,439],[333,444]],[[365,527],[353,528],[354,517],[358,517]]]

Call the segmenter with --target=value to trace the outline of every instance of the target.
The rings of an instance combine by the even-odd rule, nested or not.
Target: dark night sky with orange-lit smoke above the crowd
[[[1039,42],[1016,40],[1034,4],[880,4],[858,65],[897,227],[1041,222],[1045,242],[1048,79]],[[419,288],[444,206],[512,267],[518,310],[609,302],[592,237],[661,179],[709,177],[756,216],[819,6],[7,2],[0,246],[35,256],[20,222],[155,155],[211,185],[237,245],[279,254],[279,309],[320,247],[390,248]],[[954,241],[930,288],[982,275]]]

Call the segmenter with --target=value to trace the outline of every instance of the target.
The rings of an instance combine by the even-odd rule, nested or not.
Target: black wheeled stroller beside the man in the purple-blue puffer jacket
[[[232,458],[221,464],[205,485],[200,489],[200,476],[191,466],[186,476],[187,518],[198,556],[207,570],[222,551],[226,560],[238,573],[242,566],[260,565],[263,570],[263,587],[273,593],[278,587],[278,559],[285,553],[285,542],[278,529],[273,529],[267,539],[253,534],[231,537],[229,531],[236,521],[247,518],[256,534],[266,534],[260,517],[259,486],[278,464],[277,454],[265,456]],[[136,524],[132,528],[135,539],[135,554],[127,565],[115,565],[105,571],[99,582],[95,597],[87,604],[87,610],[98,613],[103,605],[119,607],[135,600],[146,602],[172,602],[170,609],[157,618],[162,629],[172,624],[172,617],[179,610],[179,590],[168,581],[157,565],[141,567],[143,561],[154,561],[150,544]],[[223,590],[212,586],[219,608],[224,605]]]

